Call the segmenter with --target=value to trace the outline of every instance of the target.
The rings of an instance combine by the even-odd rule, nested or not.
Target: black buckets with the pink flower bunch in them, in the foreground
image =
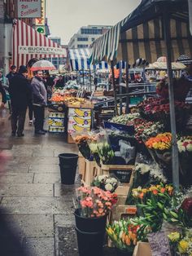
[[[117,196],[101,188],[77,189],[78,209],[75,210],[79,254],[102,255],[107,214],[116,204]]]

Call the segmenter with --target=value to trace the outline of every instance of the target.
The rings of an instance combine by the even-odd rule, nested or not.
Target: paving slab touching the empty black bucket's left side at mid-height
[[[59,165],[30,165],[29,166],[29,173],[33,172],[36,174],[51,174],[51,173],[60,173]]]

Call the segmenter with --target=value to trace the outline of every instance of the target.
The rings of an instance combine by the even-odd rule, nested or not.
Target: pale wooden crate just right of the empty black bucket
[[[90,186],[90,184],[94,180],[94,177],[100,174],[101,169],[98,168],[96,161],[85,160],[85,170],[82,176],[82,183],[84,183],[85,186]]]

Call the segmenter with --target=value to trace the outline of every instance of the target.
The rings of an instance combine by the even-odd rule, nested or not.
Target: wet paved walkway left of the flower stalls
[[[11,155],[0,179],[6,222],[17,230],[28,256],[79,255],[73,212],[80,179],[76,174],[75,185],[61,184],[58,158],[59,153],[77,152],[76,145],[62,135],[34,135],[28,119],[24,138],[11,137],[8,118],[1,127],[0,149]]]

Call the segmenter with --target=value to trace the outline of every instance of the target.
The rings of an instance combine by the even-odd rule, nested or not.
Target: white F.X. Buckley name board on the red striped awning
[[[19,54],[65,55],[64,48],[50,46],[19,46]]]

